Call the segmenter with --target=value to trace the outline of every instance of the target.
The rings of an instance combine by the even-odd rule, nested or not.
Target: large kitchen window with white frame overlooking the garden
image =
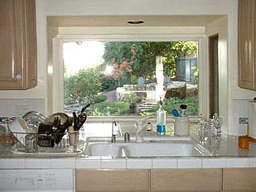
[[[205,84],[203,84],[202,80],[205,75],[203,75],[202,71],[206,71],[207,68],[206,66],[202,65],[202,60],[204,59],[203,55],[201,54],[203,41],[203,36],[194,36],[189,38],[170,38],[169,36],[158,36],[157,38],[156,36],[154,36],[154,38],[152,38],[151,36],[150,38],[150,36],[148,36],[147,40],[143,38],[139,38],[138,40],[137,38],[131,37],[125,39],[113,39],[105,37],[103,38],[103,40],[102,38],[59,38],[57,40],[57,45],[59,47],[58,50],[60,53],[60,65],[56,66],[56,71],[59,71],[60,79],[60,89],[58,91],[59,96],[64,96],[63,102],[59,103],[59,107],[62,108],[62,111],[65,111],[66,113],[71,113],[73,110],[81,110],[84,104],[90,102],[91,107],[89,113],[92,116],[152,115],[154,111],[156,111],[155,108],[158,107],[160,97],[161,99],[164,98],[167,89],[170,88],[170,84],[172,84],[172,82],[181,82],[183,84],[185,83],[187,87],[195,86],[197,88],[197,90],[194,91],[197,92],[197,94],[189,97],[192,99],[193,106],[188,106],[188,108],[193,107],[193,112],[191,113],[190,110],[190,114],[188,115],[197,116],[199,113],[201,113],[203,108],[207,106],[207,104],[203,102],[205,96],[200,93],[201,90],[205,90],[205,88],[203,87],[205,86]],[[157,63],[158,59],[156,55],[150,58],[151,61],[147,57],[141,58],[143,55],[145,56],[145,53],[139,53],[138,51],[139,49],[141,49],[141,44],[150,47],[152,45],[161,44],[161,42],[162,44],[173,43],[177,46],[181,45],[182,43],[195,42],[198,48],[196,51],[197,54],[189,55],[188,52],[186,55],[183,55],[183,57],[176,56],[174,63],[172,63],[174,67],[170,67],[170,61],[168,63],[165,57],[161,57],[160,63]],[[96,48],[97,51],[95,52],[98,52],[99,55],[92,56],[94,57],[93,60],[95,60],[97,57],[98,61],[95,61],[95,63],[94,61],[91,62],[88,56],[84,59],[84,62],[87,61],[88,64],[91,62],[90,67],[86,67],[84,65],[86,63],[84,63],[82,67],[75,67],[75,62],[79,63],[79,61],[75,61],[75,59],[78,59],[78,56],[75,55],[76,53],[78,53],[78,51],[75,51],[73,54],[71,54],[71,56],[68,56],[67,51],[74,51],[75,49],[78,50],[79,47],[82,48],[82,46],[86,46],[86,44],[88,44],[90,49],[94,49],[94,45],[98,44],[98,48]],[[128,56],[127,58],[121,58],[123,59],[123,61],[121,61],[120,58],[114,58],[111,56],[111,54],[113,54],[115,51],[108,54],[104,53],[104,50],[106,52],[106,50],[108,49],[108,52],[111,52],[110,48],[112,48],[114,45],[121,46],[121,44],[123,44],[123,46],[129,45],[132,47],[132,49],[130,49],[129,51],[124,52],[124,54],[128,54]],[[156,51],[157,49],[154,50]],[[102,55],[103,57],[100,57],[100,55]],[[136,58],[136,60],[134,58]],[[137,58],[140,58],[141,60]],[[147,61],[150,63],[150,65],[148,65],[148,67],[144,66],[144,68],[143,66],[139,67],[141,63],[141,65],[147,65],[146,62],[143,62],[146,61],[146,59],[148,59]],[[74,60],[73,64],[72,60]],[[71,66],[67,65],[67,63],[71,63]],[[163,67],[163,69],[157,69],[156,65],[162,65],[161,67]],[[153,71],[153,73],[139,70],[140,68],[146,70],[150,67],[153,67],[152,69],[150,69],[151,71]],[[79,70],[79,68],[81,70]],[[159,84],[159,82],[157,82],[156,74],[158,72],[160,72],[160,75],[162,75],[161,78],[163,79],[160,94],[158,94],[159,91],[156,92],[156,85]],[[98,75],[97,77],[100,77],[98,79],[98,82],[94,82],[95,85],[92,85],[92,80],[95,78],[84,79],[84,81],[91,82],[91,84],[88,84],[92,86],[92,88],[90,89],[95,88],[97,84],[100,83],[100,87],[96,88],[97,94],[91,94],[90,92],[87,95],[75,94],[75,91],[81,91],[78,90],[78,88],[74,88],[74,86],[79,86],[78,82],[81,82],[81,79],[79,81],[79,79],[75,80],[72,78],[77,78],[79,76],[80,78],[83,78],[82,75],[85,75],[86,77],[86,75],[90,74]],[[83,86],[83,84],[80,84],[80,86]],[[110,98],[111,96],[113,96],[114,98]],[[177,108],[179,104],[184,104],[181,103],[184,100],[179,100],[179,97],[176,96],[169,97],[169,99],[166,99],[164,101],[166,102],[166,106],[168,106],[169,104],[169,108],[166,108],[169,114],[171,110],[170,107],[173,107],[173,105],[171,106],[170,104],[176,104],[175,106]],[[121,109],[125,109],[125,111],[121,111]]]

